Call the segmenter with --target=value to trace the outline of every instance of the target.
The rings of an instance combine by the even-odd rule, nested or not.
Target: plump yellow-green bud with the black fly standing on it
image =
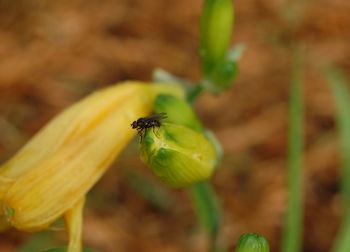
[[[216,153],[203,134],[186,126],[163,123],[145,131],[141,159],[167,185],[184,187],[211,176]]]

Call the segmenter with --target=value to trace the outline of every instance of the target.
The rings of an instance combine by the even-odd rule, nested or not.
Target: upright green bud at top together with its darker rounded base
[[[232,0],[206,0],[201,16],[200,50],[204,87],[212,93],[220,93],[232,86],[237,76],[237,57],[229,50],[234,23]],[[237,50],[240,49],[240,50]]]

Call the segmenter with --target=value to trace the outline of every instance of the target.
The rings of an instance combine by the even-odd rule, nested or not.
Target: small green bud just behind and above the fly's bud
[[[154,109],[156,113],[167,114],[166,122],[184,125],[198,132],[203,131],[197,115],[183,99],[171,95],[159,95],[155,100]]]

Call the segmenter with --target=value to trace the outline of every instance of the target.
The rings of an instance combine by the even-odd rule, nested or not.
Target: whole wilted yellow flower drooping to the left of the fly
[[[79,202],[134,136],[130,121],[149,114],[162,93],[184,96],[177,85],[126,82],[56,116],[0,167],[3,216],[26,231],[44,229],[63,214],[74,223]],[[75,247],[71,251],[80,251]]]

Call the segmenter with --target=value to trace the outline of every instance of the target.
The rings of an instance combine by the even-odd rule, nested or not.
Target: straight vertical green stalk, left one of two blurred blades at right
[[[289,97],[288,129],[288,210],[282,241],[283,252],[298,252],[301,248],[303,224],[303,64],[301,49],[293,53]]]

